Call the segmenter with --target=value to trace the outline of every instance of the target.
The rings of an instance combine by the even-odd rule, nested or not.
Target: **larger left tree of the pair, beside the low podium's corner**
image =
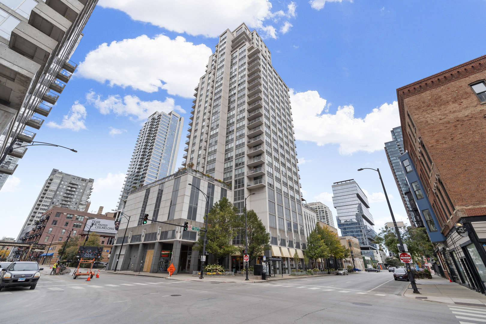
[[[231,244],[240,224],[237,212],[238,209],[226,197],[215,203],[209,211],[206,251],[216,259],[229,256],[238,250]],[[203,240],[204,236],[201,235],[192,249],[203,251]]]

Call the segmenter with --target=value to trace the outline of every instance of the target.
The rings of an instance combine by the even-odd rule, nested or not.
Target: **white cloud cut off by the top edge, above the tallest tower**
[[[295,17],[291,2],[287,13],[272,13],[269,0],[101,0],[105,8],[119,9],[134,20],[182,34],[218,37],[226,29],[233,31],[242,22],[248,27],[268,32],[265,21],[274,17]],[[274,37],[269,34],[270,37]]]

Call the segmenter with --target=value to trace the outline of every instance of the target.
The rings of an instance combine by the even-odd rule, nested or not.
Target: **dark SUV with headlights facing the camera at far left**
[[[8,287],[30,287],[35,289],[40,278],[40,270],[37,262],[17,261],[7,268],[2,268],[0,273],[0,290]]]

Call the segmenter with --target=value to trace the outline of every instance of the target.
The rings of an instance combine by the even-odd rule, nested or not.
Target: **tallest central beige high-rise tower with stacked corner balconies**
[[[272,244],[305,244],[289,87],[272,66],[257,31],[243,23],[219,37],[194,93],[187,160],[196,170],[232,183],[271,233]],[[278,243],[277,243],[278,242]]]

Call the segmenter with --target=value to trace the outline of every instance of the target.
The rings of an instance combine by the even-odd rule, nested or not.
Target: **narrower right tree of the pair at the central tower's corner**
[[[262,256],[265,250],[269,250],[270,246],[270,233],[267,233],[265,225],[261,222],[257,213],[251,209],[246,212],[246,223],[248,231],[248,256],[250,260],[254,260],[259,256]],[[240,254],[243,254],[243,250],[246,250],[244,244],[244,220],[241,217],[241,225],[243,229],[240,230],[242,234],[243,246],[240,247]]]

